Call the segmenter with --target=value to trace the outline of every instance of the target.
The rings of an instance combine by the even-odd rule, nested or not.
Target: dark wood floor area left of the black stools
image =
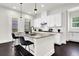
[[[13,56],[13,42],[7,42],[0,44],[0,56]]]

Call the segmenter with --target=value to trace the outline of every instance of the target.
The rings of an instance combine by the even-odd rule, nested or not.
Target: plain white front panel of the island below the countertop
[[[52,39],[53,38],[53,39]],[[54,53],[54,36],[36,39],[35,51],[37,56],[47,56]]]

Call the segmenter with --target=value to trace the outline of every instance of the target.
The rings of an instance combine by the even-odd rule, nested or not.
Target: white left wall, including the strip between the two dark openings
[[[24,19],[20,20],[20,14],[16,11],[0,7],[0,43],[12,41],[12,18],[18,20],[18,32],[24,32],[24,19],[26,14],[23,14]]]

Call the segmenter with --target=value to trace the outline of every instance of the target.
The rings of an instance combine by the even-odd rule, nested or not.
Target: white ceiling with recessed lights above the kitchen
[[[53,8],[56,8],[58,6],[62,6],[65,3],[37,3],[37,14],[44,12],[44,11],[50,11]],[[67,5],[68,3],[66,3],[65,5]],[[0,3],[0,5],[8,7],[10,9],[14,9],[14,10],[20,10],[20,4],[19,3]],[[45,7],[41,7],[41,5],[44,5]],[[35,7],[35,3],[23,3],[23,12],[27,13],[27,14],[31,14],[34,15],[34,7]]]

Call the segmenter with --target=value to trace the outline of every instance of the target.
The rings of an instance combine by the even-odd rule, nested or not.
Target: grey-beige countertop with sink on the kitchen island
[[[34,38],[34,39],[40,39],[40,38],[52,36],[52,35],[55,35],[55,34],[56,33],[52,33],[52,32],[33,32],[31,34],[16,33],[17,36],[26,36],[26,37],[30,37],[30,38]]]

